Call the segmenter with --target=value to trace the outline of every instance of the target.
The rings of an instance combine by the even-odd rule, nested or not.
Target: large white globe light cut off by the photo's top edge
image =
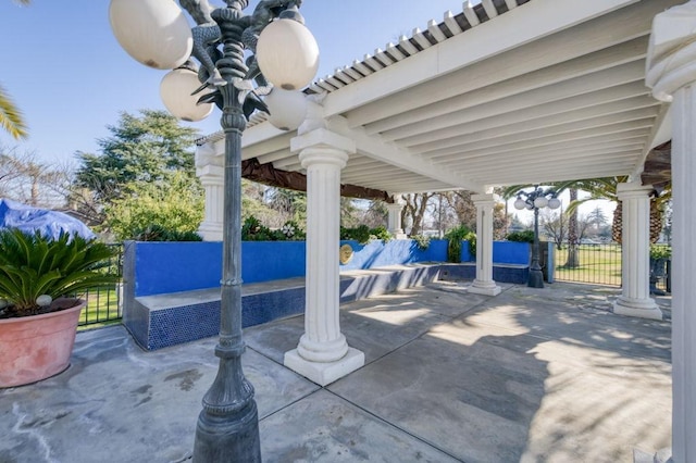
[[[174,0],[111,0],[109,21],[121,47],[146,66],[172,70],[191,54],[191,29]]]

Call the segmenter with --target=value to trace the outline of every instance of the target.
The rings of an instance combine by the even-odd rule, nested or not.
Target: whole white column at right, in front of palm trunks
[[[619,184],[617,196],[623,210],[621,239],[621,296],[613,303],[620,315],[662,320],[650,298],[650,193],[651,186]]]

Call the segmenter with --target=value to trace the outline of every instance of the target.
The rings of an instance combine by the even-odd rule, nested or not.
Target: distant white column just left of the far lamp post
[[[472,195],[476,207],[476,278],[469,292],[496,296],[501,289],[493,280],[493,195]]]

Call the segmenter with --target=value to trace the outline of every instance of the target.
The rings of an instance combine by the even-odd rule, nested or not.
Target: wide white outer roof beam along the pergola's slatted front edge
[[[554,8],[550,1],[531,1],[524,8],[514,9],[495,21],[423,50],[411,60],[383,70],[376,80],[359,80],[351,85],[350,91],[328,95],[325,100],[326,114],[340,114],[366,104],[368,108],[360,108],[356,120],[351,121],[357,125],[418,108],[424,102],[446,100],[452,95],[481,87],[486,80],[505,80],[611,47],[620,37],[648,35],[651,17],[673,4],[673,0],[639,2],[631,7],[632,14],[627,15],[622,11],[608,12],[633,3],[629,0],[584,0],[563,4],[562,9]],[[552,15],[548,14],[548,9],[554,10]],[[579,24],[596,16],[601,17]],[[525,26],[520,27],[521,24]],[[570,27],[573,25],[575,27]],[[506,34],[500,34],[500,30]],[[499,57],[522,45],[525,48],[522,59],[515,55],[520,53]],[[435,77],[452,71],[467,66],[471,68],[474,63],[478,63],[476,68],[482,72],[469,74],[465,79],[455,78],[447,85],[433,82]],[[469,84],[469,80],[472,83]],[[415,86],[418,92],[408,99],[395,97],[395,93],[414,89]],[[385,104],[381,102],[376,108],[368,104],[383,100],[387,95],[391,97],[386,98]]]

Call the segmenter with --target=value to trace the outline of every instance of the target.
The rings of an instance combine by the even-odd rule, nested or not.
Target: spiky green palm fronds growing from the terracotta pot
[[[0,229],[0,299],[17,316],[39,310],[37,298],[74,297],[95,286],[115,283],[104,273],[114,251],[107,245],[61,234],[58,239],[38,232]]]

